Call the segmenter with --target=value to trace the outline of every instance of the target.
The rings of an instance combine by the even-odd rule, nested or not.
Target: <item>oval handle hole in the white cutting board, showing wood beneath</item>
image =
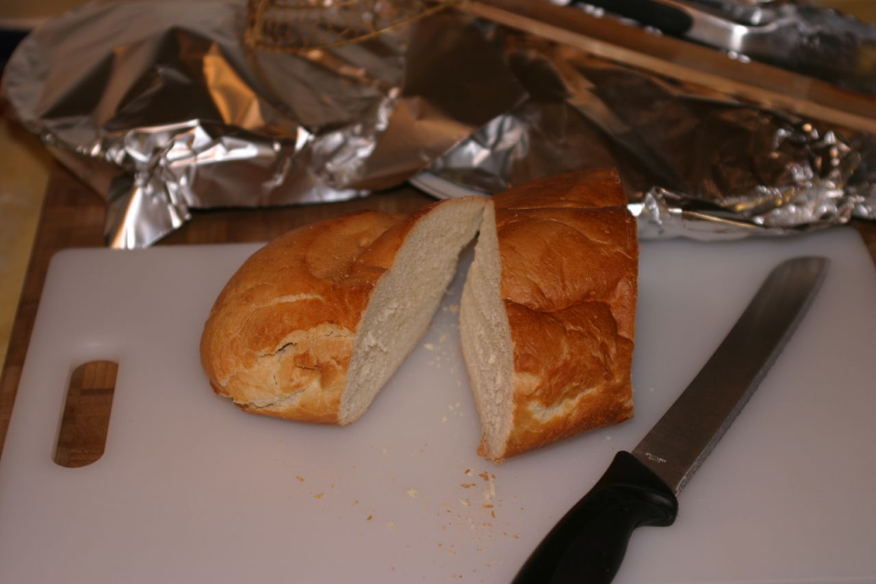
[[[114,361],[88,361],[74,369],[55,445],[55,464],[79,468],[101,458],[117,373],[118,364]]]

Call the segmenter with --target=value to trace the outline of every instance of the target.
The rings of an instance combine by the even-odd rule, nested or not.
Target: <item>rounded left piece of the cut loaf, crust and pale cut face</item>
[[[244,410],[350,424],[426,331],[486,197],[308,225],[247,260],[210,311],[201,363]]]

